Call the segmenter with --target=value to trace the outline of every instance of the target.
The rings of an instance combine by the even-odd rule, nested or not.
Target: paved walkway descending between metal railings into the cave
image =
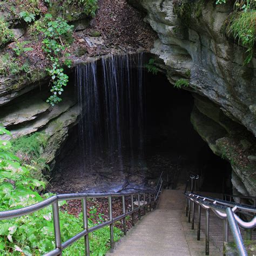
[[[147,213],[108,255],[205,255],[204,235],[197,241],[196,226],[191,230],[184,208],[183,191],[164,190],[156,210]],[[220,249],[212,242],[210,255],[221,255]]]

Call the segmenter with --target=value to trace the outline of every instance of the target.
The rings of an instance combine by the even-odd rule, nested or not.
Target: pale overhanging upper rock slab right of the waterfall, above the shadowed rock
[[[183,15],[190,24],[186,25],[173,10],[176,3],[136,3],[147,13],[145,21],[158,33],[151,52],[164,62],[159,61],[160,68],[166,70],[172,84],[190,70],[190,90],[219,105],[227,116],[256,135],[255,56],[249,65],[242,65],[245,49],[228,42],[221,32],[232,4],[192,3],[190,12]]]

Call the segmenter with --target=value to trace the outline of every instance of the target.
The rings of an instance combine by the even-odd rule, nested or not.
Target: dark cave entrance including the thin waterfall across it
[[[192,171],[201,190],[223,192],[231,169],[193,129],[191,93],[147,72],[149,58],[138,56],[73,72],[81,118],[56,159],[51,191],[146,189],[161,171],[169,171],[172,188],[184,188]]]

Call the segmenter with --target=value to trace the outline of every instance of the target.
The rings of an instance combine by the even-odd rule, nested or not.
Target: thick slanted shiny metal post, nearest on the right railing
[[[228,224],[230,224],[230,229],[233,234],[235,244],[237,244],[238,253],[241,256],[247,256],[245,250],[244,242],[242,241],[241,233],[237,225],[237,221],[234,218],[234,213],[230,207],[226,208]]]

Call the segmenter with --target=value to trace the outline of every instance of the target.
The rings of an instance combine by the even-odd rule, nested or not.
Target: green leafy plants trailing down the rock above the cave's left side
[[[1,10],[8,10],[10,16],[14,16],[19,21],[28,23],[28,36],[37,35],[38,41],[42,40],[42,49],[48,59],[46,71],[51,76],[52,95],[46,100],[54,106],[62,99],[60,95],[63,87],[68,83],[69,77],[64,73],[63,65],[71,67],[71,60],[64,57],[69,45],[73,42],[72,29],[68,21],[73,21],[82,17],[83,14],[94,17],[98,9],[97,0],[45,0],[42,4],[39,0],[18,0],[6,1],[0,4]],[[9,17],[10,17],[9,16]],[[9,24],[0,18],[0,47],[10,42],[14,35],[8,28]],[[16,42],[17,47],[13,50],[16,57],[32,48],[25,47],[25,42]],[[0,59],[0,75],[17,75],[21,72],[31,73],[28,63],[24,63],[25,58],[14,58],[8,53],[4,53]]]

